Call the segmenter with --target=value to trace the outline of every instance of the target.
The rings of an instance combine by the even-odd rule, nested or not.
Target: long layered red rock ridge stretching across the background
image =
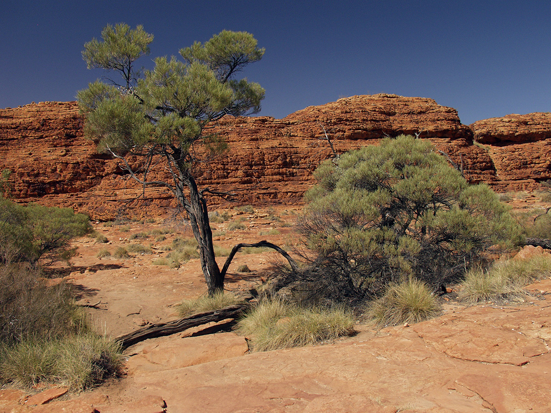
[[[532,116],[534,121],[527,120]],[[200,165],[196,175],[200,184],[233,192],[240,202],[300,203],[314,184],[312,172],[331,156],[325,133],[338,153],[377,144],[385,136],[418,133],[462,165],[471,182],[520,190],[551,178],[549,114],[503,121],[509,129],[492,129],[491,122],[483,127],[483,122],[471,130],[461,124],[455,109],[432,99],[386,94],[310,106],[284,119],[227,117],[211,131],[228,141],[229,152]],[[473,131],[488,146],[474,145]],[[0,110],[0,169],[5,168],[12,171],[13,199],[73,206],[95,219],[111,219],[127,203],[136,208],[131,201],[142,194],[115,160],[98,154],[94,143],[84,139],[76,102]],[[163,178],[163,170],[157,175]],[[164,189],[149,188],[145,198],[139,204],[149,206],[149,214],[174,206]]]

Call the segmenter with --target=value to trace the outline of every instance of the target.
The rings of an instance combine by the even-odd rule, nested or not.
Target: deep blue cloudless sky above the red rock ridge
[[[80,52],[107,24],[138,24],[156,56],[244,30],[266,48],[245,70],[266,89],[263,116],[339,97],[421,96],[465,124],[551,111],[551,2],[15,1],[0,8],[0,108],[69,101],[103,75]]]

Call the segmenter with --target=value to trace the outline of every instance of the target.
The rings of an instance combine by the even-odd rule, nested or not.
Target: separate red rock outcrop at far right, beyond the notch
[[[494,162],[497,189],[533,189],[551,179],[551,113],[507,115],[470,127]]]

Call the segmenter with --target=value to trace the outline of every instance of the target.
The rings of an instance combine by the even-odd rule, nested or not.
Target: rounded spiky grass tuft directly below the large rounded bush
[[[440,306],[424,282],[411,279],[391,284],[385,294],[369,303],[368,318],[379,325],[418,323],[436,317]]]

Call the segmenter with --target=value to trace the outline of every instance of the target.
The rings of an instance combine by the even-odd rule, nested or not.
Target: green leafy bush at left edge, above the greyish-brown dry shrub
[[[70,208],[23,206],[0,198],[0,263],[68,260],[69,241],[91,232],[88,216]]]

